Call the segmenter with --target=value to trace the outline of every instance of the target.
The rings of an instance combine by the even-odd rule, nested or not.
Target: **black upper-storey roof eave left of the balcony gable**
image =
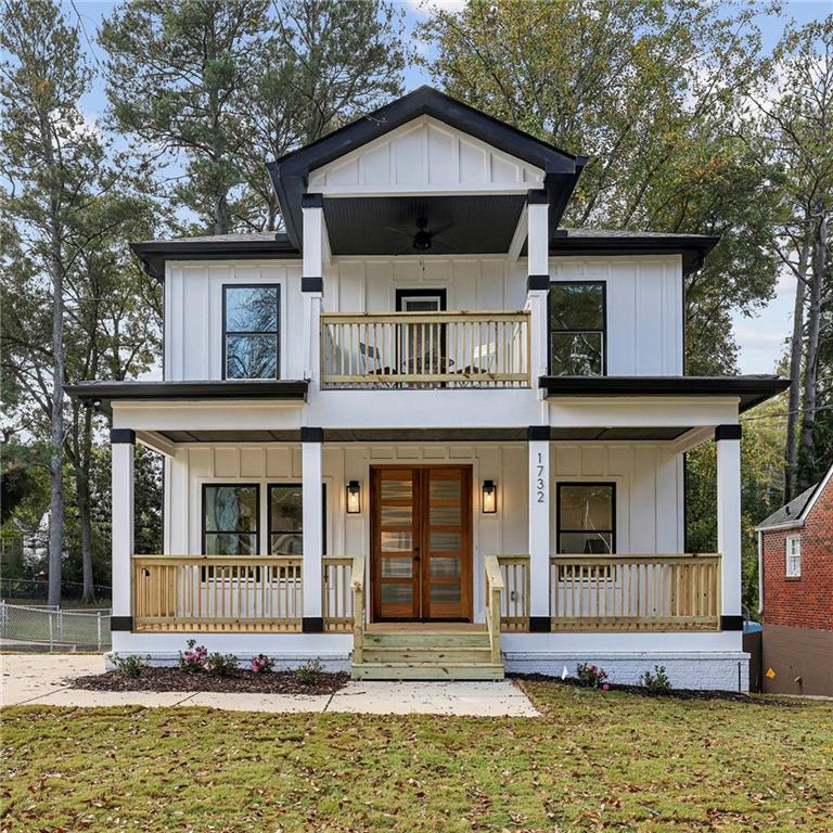
[[[216,260],[234,257],[298,259],[300,252],[283,233],[216,234],[179,240],[146,240],[131,243],[130,248],[152,278],[165,280],[167,260]]]

